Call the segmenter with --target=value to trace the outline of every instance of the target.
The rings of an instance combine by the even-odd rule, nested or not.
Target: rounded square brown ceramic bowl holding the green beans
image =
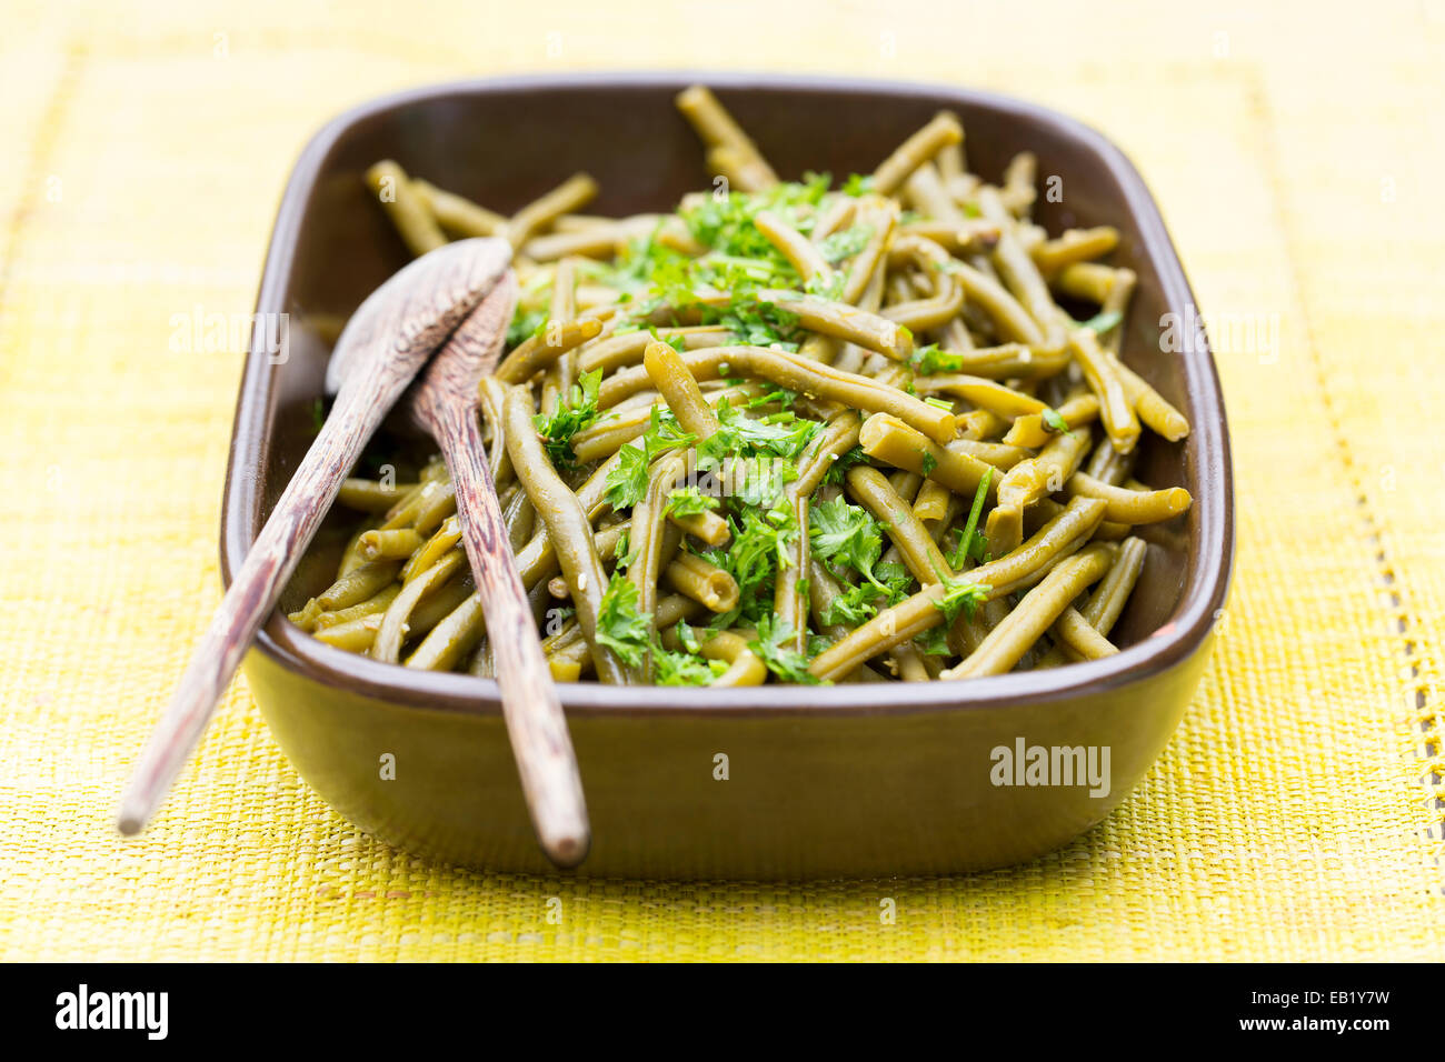
[[[1230,451],[1209,351],[1160,351],[1160,318],[1189,285],[1143,181],[1098,133],[1039,107],[954,88],[782,77],[630,74],[477,81],[393,95],[337,118],[296,163],[257,311],[290,315],[290,357],[251,351],[224,504],[230,582],[312,438],[328,344],[406,260],[361,172],[409,172],[514,210],[574,170],[594,212],[672,208],[704,188],[702,152],[672,97],[712,85],[785,176],[868,172],[941,107],[962,117],[970,165],[997,178],[1014,152],[1064,179],[1040,197],[1053,233],[1108,223],[1139,273],[1124,360],[1186,410],[1182,445],[1146,432],[1140,478],[1182,484],[1194,507],[1152,529],[1117,656],[968,682],[756,689],[561,688],[594,842],[582,873],[639,877],[931,874],[1030,858],[1088,829],[1149,770],[1189,704],[1233,555]],[[1042,178],[1040,178],[1042,179]],[[545,870],[517,786],[496,683],[342,653],[285,611],[328,582],[303,564],[247,657],[266,720],[302,777],[341,815],[402,848],[500,870]],[[1107,795],[994,785],[1017,741],[1107,747]],[[394,779],[381,759],[394,757]],[[720,757],[727,757],[725,761]],[[727,777],[717,764],[725,763]],[[1056,780],[1064,780],[1056,777]]]

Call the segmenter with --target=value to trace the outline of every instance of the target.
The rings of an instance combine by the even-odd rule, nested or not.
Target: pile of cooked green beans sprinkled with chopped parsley
[[[1189,425],[1120,358],[1118,233],[1046,233],[1035,157],[987,182],[946,111],[835,185],[782,182],[704,87],[678,108],[717,179],[669,214],[585,214],[585,173],[512,215],[366,175],[413,254],[514,250],[480,407],[555,678],[923,682],[1118,652],[1136,530],[1191,504],[1133,478],[1146,429]],[[337,578],[290,618],[490,675],[445,467],[406,478],[345,483]]]

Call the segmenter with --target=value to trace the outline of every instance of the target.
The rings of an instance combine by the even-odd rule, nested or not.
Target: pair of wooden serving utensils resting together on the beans
[[[587,855],[590,826],[577,757],[507,542],[477,418],[477,384],[497,363],[516,303],[510,260],[503,240],[447,244],[396,273],[353,315],[327,367],[327,390],[337,396],[331,415],[142,750],[121,796],[123,834],[140,832],[165,799],[342,478],[405,393],[409,418],[441,446],[457,488],[501,711],[538,839],[559,867]]]

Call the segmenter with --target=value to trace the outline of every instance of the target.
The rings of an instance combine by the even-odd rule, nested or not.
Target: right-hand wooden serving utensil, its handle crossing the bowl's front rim
[[[575,867],[591,844],[582,779],[507,540],[477,410],[477,387],[497,366],[514,305],[516,280],[507,273],[418,377],[406,410],[441,446],[457,488],[457,517],[487,617],[501,715],[538,841],[552,863]]]

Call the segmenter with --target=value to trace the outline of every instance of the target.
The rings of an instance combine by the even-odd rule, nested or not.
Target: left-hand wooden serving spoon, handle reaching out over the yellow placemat
[[[256,536],[146,741],[121,795],[120,832],[139,834],[165,799],[361,448],[426,358],[507,276],[510,257],[510,247],[499,240],[439,247],[377,288],[347,322],[332,354],[332,364],[345,371],[327,374],[328,390],[338,384],[331,415]]]

